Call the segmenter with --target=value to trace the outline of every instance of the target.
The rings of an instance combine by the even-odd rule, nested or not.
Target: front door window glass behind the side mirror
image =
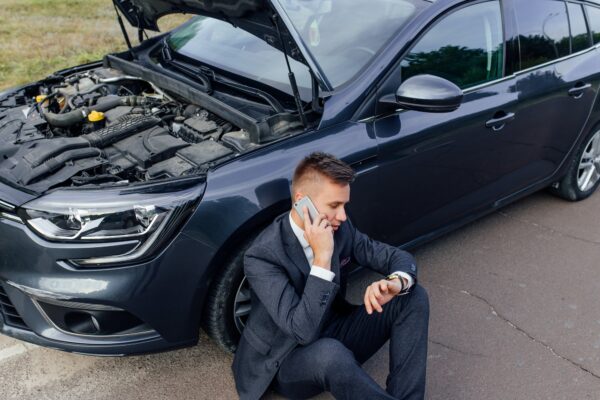
[[[501,78],[503,43],[498,1],[461,8],[434,25],[405,56],[402,80],[431,74],[464,89]]]

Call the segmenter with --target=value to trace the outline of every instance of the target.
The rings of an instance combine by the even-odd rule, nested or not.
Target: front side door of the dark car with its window
[[[454,112],[404,110],[373,122],[380,239],[410,242],[496,198],[494,184],[513,169],[503,159],[517,102],[514,80],[504,77],[508,53],[500,2],[469,2],[429,27],[383,82],[379,98],[419,74],[446,78],[465,95]]]

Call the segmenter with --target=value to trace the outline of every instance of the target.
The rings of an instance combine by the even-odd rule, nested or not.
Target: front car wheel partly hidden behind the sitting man
[[[215,278],[203,316],[206,333],[223,349],[234,352],[250,314],[250,286],[244,276],[243,246]]]

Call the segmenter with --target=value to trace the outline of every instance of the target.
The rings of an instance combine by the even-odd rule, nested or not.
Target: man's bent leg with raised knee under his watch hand
[[[364,363],[390,339],[390,373],[387,392],[398,399],[422,399],[425,395],[429,300],[425,289],[415,286],[410,294],[395,297],[380,314],[360,307],[333,321],[323,336],[348,347]]]

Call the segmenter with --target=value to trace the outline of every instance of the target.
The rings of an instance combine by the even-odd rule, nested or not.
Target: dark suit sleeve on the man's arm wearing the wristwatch
[[[352,236],[352,257],[363,267],[383,275],[401,271],[409,274],[416,283],[417,262],[407,251],[371,239],[347,221]]]

